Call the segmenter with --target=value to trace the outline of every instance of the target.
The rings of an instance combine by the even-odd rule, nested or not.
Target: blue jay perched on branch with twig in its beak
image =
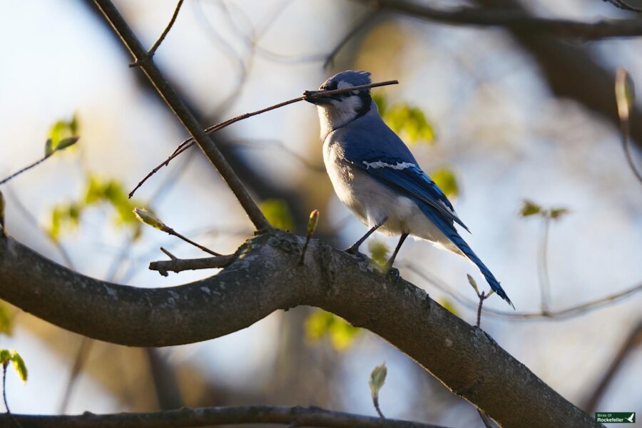
[[[370,73],[366,71],[342,71],[327,79],[320,90],[368,83]],[[392,267],[408,235],[423,238],[468,258],[477,265],[492,290],[513,305],[488,267],[457,233],[454,223],[467,231],[468,228],[459,220],[446,195],[419,168],[407,146],[379,116],[370,89],[307,101],[317,106],[323,161],[335,193],[362,223],[370,226],[347,249],[348,253],[357,253],[375,230],[384,235],[401,235],[388,261]]]

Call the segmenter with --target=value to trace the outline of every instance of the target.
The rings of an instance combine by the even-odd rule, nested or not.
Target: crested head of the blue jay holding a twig
[[[350,88],[351,86],[367,85],[368,83],[371,83],[371,81],[370,73],[367,71],[347,70],[327,79],[319,90],[332,91],[334,89]],[[306,91],[305,94],[310,95],[317,92]],[[317,106],[321,120],[322,136],[354,121],[356,118],[360,118],[372,108],[370,88],[309,98],[306,101]]]

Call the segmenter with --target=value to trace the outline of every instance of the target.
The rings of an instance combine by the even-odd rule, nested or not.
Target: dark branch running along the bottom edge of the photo
[[[293,424],[295,427],[329,428],[444,428],[433,424],[399,419],[379,419],[359,414],[332,412],[320,407],[243,406],[203,407],[166,410],[156,413],[78,414],[41,416],[16,414],[16,419],[31,428],[163,428],[205,427],[235,424]],[[11,419],[0,416],[0,425],[9,427]]]

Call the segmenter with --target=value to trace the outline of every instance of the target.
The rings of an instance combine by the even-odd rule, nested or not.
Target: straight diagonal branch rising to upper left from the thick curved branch
[[[121,41],[127,46],[127,49],[136,59],[136,62],[140,63],[140,67],[153,83],[153,86],[156,87],[158,93],[161,93],[165,103],[167,103],[176,117],[183,123],[183,126],[185,126],[191,136],[193,136],[200,149],[205,153],[205,156],[208,157],[223,177],[225,183],[228,183],[230,190],[232,190],[243,206],[245,213],[248,214],[248,217],[252,220],[255,227],[259,230],[270,228],[270,223],[267,223],[265,216],[261,213],[261,210],[250,196],[250,193],[248,193],[248,190],[245,189],[238,175],[236,175],[228,161],[225,160],[223,154],[220,153],[210,136],[203,131],[203,126],[198,123],[193,113],[189,111],[185,103],[178,97],[174,88],[163,77],[161,71],[148,56],[146,49],[143,48],[143,45],[138,41],[136,35],[133,34],[133,31],[131,31],[116,7],[113,6],[109,0],[96,0],[95,3],[105,19],[111,24],[114,31],[121,37]]]

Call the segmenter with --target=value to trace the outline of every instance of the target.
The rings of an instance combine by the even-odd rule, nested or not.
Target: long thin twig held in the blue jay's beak
[[[297,98],[292,98],[287,101],[283,101],[282,103],[277,103],[273,106],[261,108],[260,110],[257,111],[251,111],[250,113],[243,113],[242,115],[236,116],[234,118],[228,119],[227,121],[223,121],[220,123],[217,123],[213,126],[210,126],[208,128],[205,128],[204,132],[208,134],[215,133],[217,131],[220,131],[221,129],[230,126],[232,123],[236,123],[238,121],[243,121],[243,119],[251,118],[252,116],[257,116],[261,113],[265,113],[267,111],[275,110],[276,108],[284,107],[293,103],[297,103],[299,101],[307,101],[309,99],[317,98],[319,96],[328,96],[328,95],[336,95],[337,93],[346,93],[346,92],[352,92],[352,91],[357,91],[360,89],[367,89],[367,88],[377,88],[378,86],[387,86],[387,85],[397,85],[399,84],[399,81],[392,80],[392,81],[383,81],[383,82],[377,82],[377,83],[370,83],[367,85],[360,85],[360,86],[352,86],[350,88],[342,88],[342,89],[335,89],[333,91],[320,91],[317,93],[313,94],[304,94],[303,96],[299,96]],[[188,148],[193,146],[194,144],[194,138],[188,138],[183,143],[180,143],[178,147],[174,150],[174,152],[167,158],[163,163],[159,163],[156,165],[156,168],[151,170],[144,178],[141,180],[135,188],[129,193],[129,197],[131,198],[134,193],[136,193],[136,190],[143,185],[152,175],[154,175],[158,170],[163,168],[163,166],[169,165],[170,161],[172,161],[173,158],[176,156],[180,155],[180,153],[183,153],[186,151]]]

